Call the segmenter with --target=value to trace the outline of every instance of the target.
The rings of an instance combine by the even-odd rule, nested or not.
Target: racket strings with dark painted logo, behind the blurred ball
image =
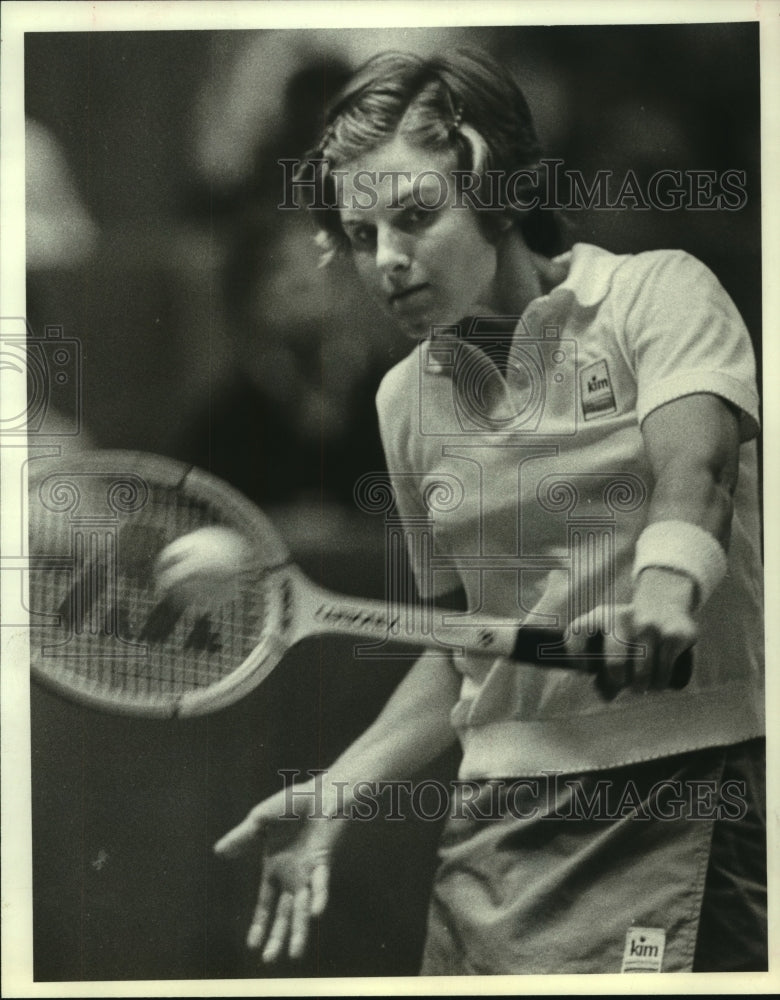
[[[38,669],[142,702],[209,687],[237,669],[262,635],[262,575],[242,574],[234,599],[208,607],[161,599],[154,579],[169,542],[225,523],[211,504],[174,486],[151,488],[144,508],[116,525],[39,508],[29,572]]]

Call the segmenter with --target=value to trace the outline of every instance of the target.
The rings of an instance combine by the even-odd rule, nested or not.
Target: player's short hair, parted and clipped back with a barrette
[[[566,248],[559,214],[525,207],[534,194],[544,204],[545,192],[534,183],[543,183],[545,171],[539,169],[541,149],[531,112],[513,77],[487,53],[473,49],[427,59],[384,52],[358,69],[337,94],[323,135],[306,160],[314,164],[315,185],[323,194],[310,208],[324,260],[349,245],[331,171],[396,135],[423,149],[454,152],[457,169],[476,173],[480,182],[491,171],[485,187],[498,210],[479,212],[488,238],[505,229],[509,219],[532,250],[553,256]],[[520,185],[518,171],[526,172]],[[484,194],[478,197],[484,203]]]

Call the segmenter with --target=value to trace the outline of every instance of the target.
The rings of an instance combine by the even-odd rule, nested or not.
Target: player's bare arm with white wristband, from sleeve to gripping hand
[[[738,416],[720,397],[698,393],[658,407],[642,437],[654,486],[633,601],[618,631],[646,655],[608,666],[615,690],[666,687],[675,661],[695,643],[696,612],[725,574],[737,485]]]

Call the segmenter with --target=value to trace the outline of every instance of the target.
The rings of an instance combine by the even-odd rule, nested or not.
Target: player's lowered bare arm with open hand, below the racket
[[[455,739],[449,715],[457,699],[458,675],[444,654],[422,656],[398,686],[377,720],[334,762],[322,779],[286,790],[251,810],[216,845],[234,857],[263,845],[260,893],[247,944],[266,962],[286,952],[299,957],[312,917],[327,905],[333,850],[357,782],[409,777]],[[308,796],[305,793],[309,793]],[[290,802],[299,818],[289,816]],[[287,819],[280,817],[287,814]]]

